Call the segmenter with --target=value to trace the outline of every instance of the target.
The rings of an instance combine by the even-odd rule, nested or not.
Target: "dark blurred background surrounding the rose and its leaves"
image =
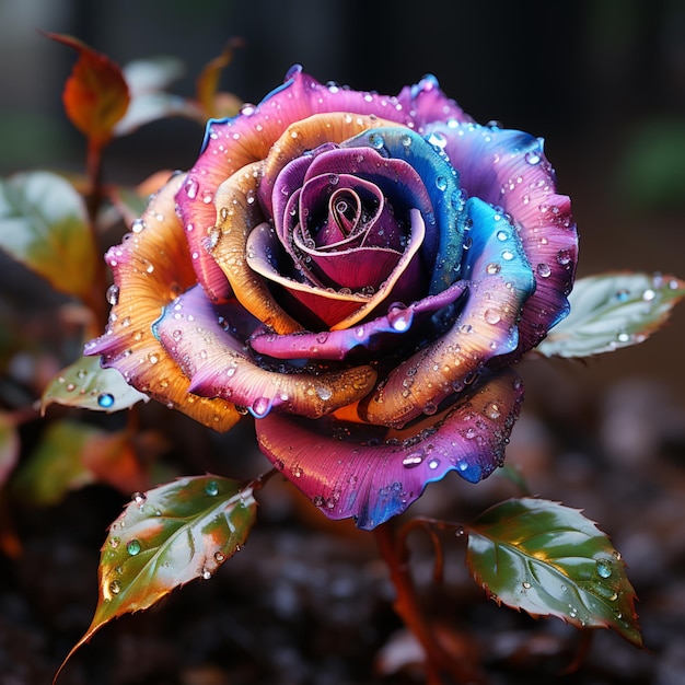
[[[179,57],[187,70],[173,90],[186,96],[194,93],[201,67],[231,38],[240,38],[242,45],[223,74],[222,89],[247,102],[258,102],[278,85],[294,62],[321,81],[386,93],[433,73],[476,120],[497,119],[546,139],[559,189],[573,201],[581,235],[580,276],[626,269],[685,277],[683,0],[0,0],[2,175],[37,167],[82,171],[84,143],[60,103],[73,54],[38,31],[78,36],[120,65],[154,55]],[[159,169],[186,169],[201,137],[200,127],[187,120],[149,125],[111,146],[106,177],[138,183]],[[22,270],[7,260],[0,265],[2,311],[21,304],[40,312],[50,305],[35,282],[24,280]],[[523,468],[535,492],[585,508],[612,533],[642,596],[640,613],[653,650],[651,655],[635,652],[619,638],[601,634],[589,670],[568,682],[685,682],[678,649],[685,641],[685,307],[638,348],[585,363],[526,362],[521,372],[529,397],[510,461]],[[212,442],[210,448],[217,444],[222,443]],[[454,480],[433,490],[436,506],[445,510],[456,507],[455,498],[468,509],[498,494],[511,495],[501,483],[484,484],[478,495]],[[102,511],[88,509],[94,499],[105,501]],[[281,501],[278,496],[275,500]],[[18,566],[0,567],[9,580],[9,590],[0,595],[0,682],[14,678],[8,685],[49,680],[50,669],[90,619],[94,580],[74,568],[86,569],[94,579],[94,550],[120,500],[95,490],[74,495],[68,507],[18,514],[26,555]],[[270,515],[280,542],[268,533],[255,534],[255,567],[241,560],[231,571],[227,565],[219,583],[221,596],[232,596],[231,589],[237,588],[235,602],[244,614],[231,614],[225,600],[212,594],[219,591],[188,588],[198,606],[202,602],[212,606],[206,615],[193,612],[193,599],[172,599],[166,613],[138,617],[142,627],[117,622],[121,627],[98,636],[91,657],[84,655],[67,672],[65,683],[362,682],[359,674],[368,672],[369,654],[384,642],[379,614],[383,620],[391,615],[387,589],[382,589],[380,571],[370,560],[373,550],[358,537],[344,535],[332,543],[321,530],[300,535],[297,526],[283,524],[289,519],[277,512],[278,506],[270,513],[266,503],[264,508],[266,530]],[[88,511],[93,511],[92,522],[83,527]],[[76,541],[55,523],[57,515],[78,522],[81,532]],[[66,545],[61,556],[53,539]],[[303,549],[315,550],[321,558],[312,568],[298,570],[293,564]],[[363,564],[356,566],[358,554]],[[257,588],[245,589],[240,572],[258,578]],[[455,585],[458,600],[471,607],[471,595],[460,584],[467,580],[463,571],[455,573],[461,579]],[[70,580],[72,576],[78,580]],[[65,588],[69,591],[59,601],[56,595]],[[260,595],[258,611],[245,599],[251,592]],[[352,596],[364,602],[349,604]],[[311,605],[303,608],[307,602]],[[342,616],[346,602],[359,625],[351,614]],[[326,606],[333,607],[328,614]],[[218,607],[225,619],[222,628],[217,628]],[[541,654],[554,652],[555,639],[569,639],[567,634],[559,637],[560,628],[541,632],[536,624],[513,624],[506,609],[497,617],[491,609],[468,611],[464,615],[508,636],[509,642],[492,638],[500,651],[486,650],[495,664],[492,682],[533,683],[536,673],[549,677],[552,671],[545,669],[554,660],[545,661]],[[508,617],[500,618],[504,613]],[[272,628],[257,620],[263,614],[264,624],[270,620]],[[302,647],[311,645],[311,630],[294,630],[298,637],[291,636],[292,642],[278,632],[304,619],[324,626],[322,635],[328,641],[324,639],[318,651]],[[170,620],[187,620],[195,632],[181,624],[175,629]],[[341,632],[326,632],[326,622]],[[259,643],[251,643],[255,632]],[[522,636],[521,642],[511,637],[514,634]],[[170,649],[170,635],[185,636],[179,643],[190,657],[184,660]],[[367,652],[340,649],[344,640],[359,635]],[[259,645],[266,645],[267,652],[271,648],[262,670],[255,665],[263,658]],[[107,647],[112,649],[104,657]],[[202,670],[207,652],[235,652],[255,663],[235,673],[225,657],[224,661],[212,657],[212,667]],[[350,660],[361,664],[358,671],[348,667]],[[235,662],[233,657],[229,661]],[[529,666],[532,670],[526,671]],[[2,676],[3,672],[10,675]],[[403,682],[392,677],[400,676],[386,676],[386,682]]]

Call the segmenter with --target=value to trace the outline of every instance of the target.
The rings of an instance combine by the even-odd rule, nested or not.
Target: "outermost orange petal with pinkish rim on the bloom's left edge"
[[[224,431],[240,419],[233,405],[190,393],[188,379],[151,332],[160,310],[195,283],[183,227],[174,211],[174,196],[183,183],[183,175],[173,177],[133,222],[128,240],[107,252],[118,301],[106,333],[89,342],[84,352],[102,355],[103,367],[117,369],[133,387]]]

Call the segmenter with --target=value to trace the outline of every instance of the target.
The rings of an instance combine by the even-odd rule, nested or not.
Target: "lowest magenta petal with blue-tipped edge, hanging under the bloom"
[[[257,421],[257,439],[264,454],[327,516],[353,516],[360,529],[371,530],[404,512],[428,483],[450,471],[476,483],[500,466],[522,396],[520,380],[507,371],[438,420],[410,433],[390,431],[381,444],[370,444],[368,427],[274,414]]]

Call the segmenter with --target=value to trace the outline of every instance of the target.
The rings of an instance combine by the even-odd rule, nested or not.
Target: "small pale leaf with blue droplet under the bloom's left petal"
[[[95,411],[120,411],[149,397],[126,383],[116,369],[103,369],[98,357],[82,357],[53,379],[40,398],[40,410],[53,403]]]

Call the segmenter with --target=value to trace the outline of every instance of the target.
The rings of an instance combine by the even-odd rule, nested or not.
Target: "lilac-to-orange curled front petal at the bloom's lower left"
[[[190,378],[191,392],[223,397],[244,406],[255,417],[272,408],[318,418],[357,402],[373,387],[370,367],[310,373],[292,365],[269,371],[258,365],[244,347],[244,333],[233,335],[242,317],[235,303],[212,305],[200,287],[170,304],[154,325],[169,355]]]

